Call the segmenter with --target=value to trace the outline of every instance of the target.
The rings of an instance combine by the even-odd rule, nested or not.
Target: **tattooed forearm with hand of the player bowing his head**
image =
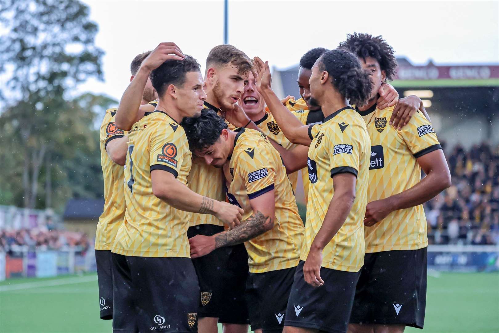
[[[213,236],[196,235],[193,238],[189,238],[191,258],[206,256],[215,249],[225,246],[244,243],[272,228],[272,218],[257,211],[232,230],[224,231]]]

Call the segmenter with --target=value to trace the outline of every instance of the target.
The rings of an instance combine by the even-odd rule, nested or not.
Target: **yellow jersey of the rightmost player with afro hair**
[[[442,149],[431,123],[420,112],[401,131],[388,124],[393,107],[361,112],[371,137],[368,202],[403,192],[421,180],[417,158]],[[366,252],[417,250],[428,246],[423,205],[390,213],[364,228]]]

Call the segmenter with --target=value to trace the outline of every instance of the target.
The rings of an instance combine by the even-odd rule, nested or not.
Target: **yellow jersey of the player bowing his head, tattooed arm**
[[[272,230],[245,243],[250,272],[276,271],[298,265],[304,227],[291,184],[279,153],[265,134],[242,128],[234,141],[229,163],[233,178],[228,199],[243,208],[243,219],[252,214],[250,199],[274,190],[275,220]]]

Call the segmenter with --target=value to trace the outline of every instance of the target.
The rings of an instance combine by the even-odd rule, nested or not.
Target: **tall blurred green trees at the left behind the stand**
[[[102,194],[96,116],[116,101],[71,97],[103,78],[88,15],[74,0],[0,1],[0,203],[61,209]]]

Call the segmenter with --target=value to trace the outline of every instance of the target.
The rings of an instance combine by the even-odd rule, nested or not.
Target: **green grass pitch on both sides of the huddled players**
[[[0,332],[111,332],[111,322],[98,319],[98,300],[94,274],[4,281]],[[499,332],[499,274],[429,276],[425,329],[406,332]]]

